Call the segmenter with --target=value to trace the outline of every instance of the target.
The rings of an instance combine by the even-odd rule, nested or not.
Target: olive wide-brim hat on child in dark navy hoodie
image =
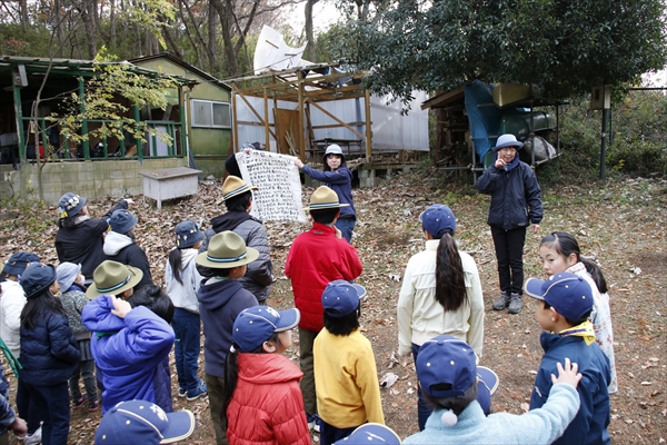
[[[208,250],[197,255],[195,263],[213,269],[231,269],[259,258],[259,250],[247,247],[243,238],[225,230],[211,238]]]

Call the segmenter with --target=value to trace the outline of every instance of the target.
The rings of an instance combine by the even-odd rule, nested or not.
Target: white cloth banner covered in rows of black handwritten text
[[[293,156],[250,150],[235,155],[243,180],[257,186],[250,215],[262,221],[307,222],[301,204],[301,179]]]

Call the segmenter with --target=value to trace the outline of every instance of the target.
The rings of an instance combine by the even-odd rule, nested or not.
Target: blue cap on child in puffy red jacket
[[[242,310],[233,322],[233,343],[241,353],[250,353],[272,334],[293,329],[300,320],[299,309],[278,312],[269,306],[253,306]]]

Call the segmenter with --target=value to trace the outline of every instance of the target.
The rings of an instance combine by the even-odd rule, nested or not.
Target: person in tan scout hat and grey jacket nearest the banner
[[[269,256],[269,241],[263,224],[250,216],[252,209],[252,191],[256,186],[247,184],[239,177],[228,176],[222,184],[222,198],[227,212],[211,219],[211,226],[206,230],[199,251],[206,251],[211,238],[221,231],[231,230],[243,239],[246,246],[259,253],[257,259],[248,265],[246,275],[239,283],[249,290],[260,304],[269,296],[269,287],[273,283],[271,270],[273,265]],[[212,273],[205,267],[198,267],[200,274],[210,277]]]

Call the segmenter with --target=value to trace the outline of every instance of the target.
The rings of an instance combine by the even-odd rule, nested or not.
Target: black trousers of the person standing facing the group
[[[526,227],[505,230],[491,226],[491,236],[498,259],[500,290],[507,294],[524,294],[524,244]]]

